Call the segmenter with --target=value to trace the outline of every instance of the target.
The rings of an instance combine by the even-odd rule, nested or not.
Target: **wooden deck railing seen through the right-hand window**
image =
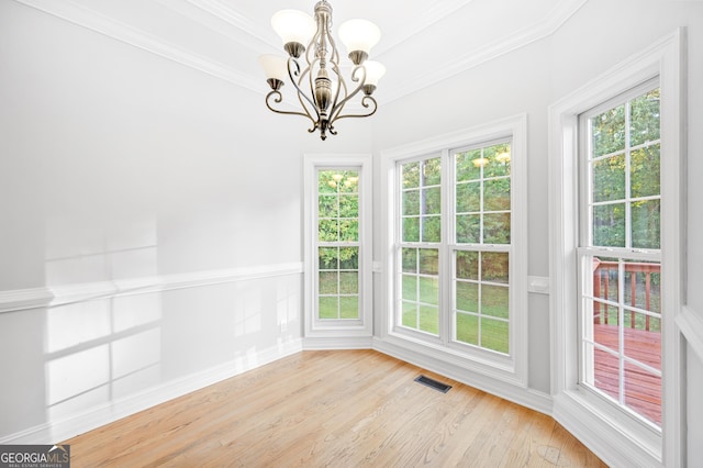
[[[629,275],[629,304],[633,308],[651,311],[651,300],[652,300],[651,275],[659,274],[661,270],[661,265],[627,261],[624,264],[624,267],[625,267],[625,276]],[[593,296],[595,298],[601,298],[606,301],[610,300],[612,302],[618,302],[617,288],[615,288],[615,297],[611,298],[612,293],[611,293],[611,285],[610,285],[611,271],[614,271],[615,278],[618,278],[617,269],[618,269],[617,261],[603,261],[598,258],[593,259]],[[644,308],[643,305],[637,305],[637,274],[641,274],[645,276]],[[621,280],[625,281],[625,278],[622,278]],[[615,285],[617,285],[617,282]],[[626,286],[626,282],[623,286]],[[627,293],[627,291],[625,291],[625,293]],[[656,294],[656,300],[657,301],[659,300],[658,294]],[[613,309],[615,314],[617,314],[616,307],[593,301],[593,323],[607,324],[609,313],[611,313]],[[657,310],[659,310],[659,308],[657,308]],[[625,322],[627,322],[627,316],[625,316]],[[625,323],[625,326],[627,326],[627,323]],[[646,315],[645,330],[649,331],[649,326],[650,326],[650,316]],[[635,328],[635,312],[633,311],[629,311],[629,327]]]

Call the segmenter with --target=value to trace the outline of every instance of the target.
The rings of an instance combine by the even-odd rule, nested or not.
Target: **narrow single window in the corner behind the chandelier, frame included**
[[[306,338],[370,339],[370,165],[366,155],[305,156]]]

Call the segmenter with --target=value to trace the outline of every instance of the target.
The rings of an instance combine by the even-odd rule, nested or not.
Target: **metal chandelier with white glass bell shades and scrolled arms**
[[[271,91],[266,105],[279,114],[302,115],[310,119],[310,133],[320,131],[325,140],[327,132],[336,135],[334,124],[339,119],[366,118],[376,113],[378,103],[371,96],[378,80],[386,73],[383,65],[367,60],[370,48],[378,43],[381,33],[376,24],[366,20],[349,20],[339,26],[339,38],[347,47],[353,68],[347,87],[339,69],[339,53],[332,37],[332,5],[326,0],[315,4],[315,18],[298,10],[281,10],[271,18],[274,30],[283,41],[288,59],[276,55],[263,55],[259,63],[266,73]],[[301,110],[277,109],[283,100],[281,87],[290,81],[295,88]],[[362,92],[360,104],[349,113],[345,107]],[[358,112],[356,112],[358,111]]]

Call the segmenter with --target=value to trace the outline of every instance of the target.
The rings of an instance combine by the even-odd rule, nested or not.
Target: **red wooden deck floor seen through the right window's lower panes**
[[[595,342],[618,349],[617,327],[593,325]],[[625,355],[661,370],[661,333],[645,330],[624,328]],[[620,361],[616,356],[595,349],[595,387],[620,399]],[[661,425],[661,377],[646,371],[639,366],[625,363],[623,394],[625,404]]]

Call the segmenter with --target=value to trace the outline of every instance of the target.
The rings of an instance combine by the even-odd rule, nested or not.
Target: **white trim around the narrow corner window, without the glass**
[[[304,170],[304,348],[368,348],[373,334],[372,314],[372,164],[369,154],[309,154]],[[359,320],[319,320],[316,316],[317,169],[359,170]]]

